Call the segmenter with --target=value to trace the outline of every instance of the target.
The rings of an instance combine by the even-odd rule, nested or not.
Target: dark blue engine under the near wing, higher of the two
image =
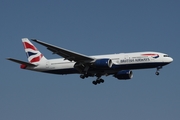
[[[98,59],[93,63],[93,66],[100,69],[111,68],[113,65],[112,60],[105,58],[105,59]]]

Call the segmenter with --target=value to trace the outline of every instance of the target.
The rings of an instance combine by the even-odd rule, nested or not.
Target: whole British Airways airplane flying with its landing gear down
[[[104,83],[102,76],[112,75],[118,80],[129,80],[133,78],[132,70],[135,69],[156,68],[155,74],[159,75],[159,70],[173,61],[165,53],[151,51],[87,56],[37,39],[31,40],[62,58],[46,59],[28,38],[22,38],[28,62],[7,59],[21,64],[21,69],[61,75],[80,74],[82,79],[96,77],[92,81],[94,85]]]

